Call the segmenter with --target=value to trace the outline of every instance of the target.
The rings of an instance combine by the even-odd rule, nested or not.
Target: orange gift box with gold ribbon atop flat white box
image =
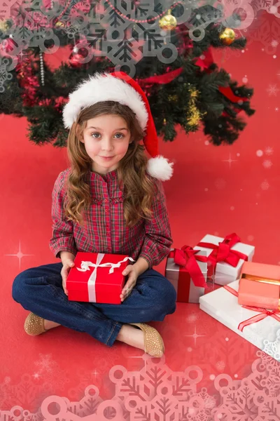
[[[239,280],[238,303],[264,309],[280,309],[280,267],[244,262]]]

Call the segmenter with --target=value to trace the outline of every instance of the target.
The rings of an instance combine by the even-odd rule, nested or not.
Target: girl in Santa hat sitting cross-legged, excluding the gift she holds
[[[13,299],[31,311],[25,331],[39,335],[62,325],[109,347],[120,340],[160,357],[163,340],[144,322],[176,309],[172,283],[153,269],[172,245],[161,180],[172,176],[173,164],[158,156],[146,95],[124,72],[96,73],[69,95],[63,120],[71,168],[52,190],[50,239],[61,262],[31,267],[13,281]],[[134,259],[123,271],[120,305],[68,300],[66,277],[78,251]]]

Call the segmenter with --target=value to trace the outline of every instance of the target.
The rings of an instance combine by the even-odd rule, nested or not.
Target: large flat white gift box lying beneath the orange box
[[[228,286],[238,291],[239,281],[234,281]],[[255,312],[242,307],[238,304],[238,298],[224,287],[200,297],[200,309],[264,352],[264,341],[274,341],[276,332],[280,328],[280,321],[272,316],[266,316],[265,319],[245,326],[242,331],[239,330],[239,323],[261,314],[261,311]],[[265,309],[262,311],[266,312]]]

